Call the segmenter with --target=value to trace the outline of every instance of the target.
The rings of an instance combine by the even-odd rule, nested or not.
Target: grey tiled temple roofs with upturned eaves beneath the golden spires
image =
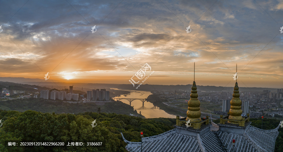
[[[217,129],[211,125],[210,131],[203,135],[197,134],[197,137],[179,134],[176,129],[172,129],[163,134],[142,138],[142,151],[224,152],[216,134],[228,152],[233,151],[232,139],[236,140],[235,151],[274,151],[278,128],[279,126],[273,130],[262,130],[249,125],[244,134],[233,134],[221,130],[213,131]],[[123,134],[122,137],[128,144],[125,147],[128,151],[141,151],[141,142],[127,141]]]

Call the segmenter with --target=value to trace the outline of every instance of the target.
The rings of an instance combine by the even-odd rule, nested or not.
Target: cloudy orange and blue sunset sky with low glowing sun
[[[283,87],[283,1],[1,1],[0,25],[0,77]]]

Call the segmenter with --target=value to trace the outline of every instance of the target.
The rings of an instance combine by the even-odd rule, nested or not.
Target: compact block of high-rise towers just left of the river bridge
[[[86,101],[109,101],[109,91],[106,91],[106,89],[87,91]]]

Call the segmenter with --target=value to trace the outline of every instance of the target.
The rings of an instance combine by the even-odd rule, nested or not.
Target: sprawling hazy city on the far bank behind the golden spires
[[[280,108],[278,103],[283,104],[283,88],[274,90],[258,90],[251,91],[248,88],[241,88],[240,99],[242,102],[241,110],[243,114],[250,113],[251,118],[261,117],[264,113],[272,117],[283,116],[283,108]],[[230,110],[230,101],[232,99],[232,91],[201,91],[198,90],[198,99],[201,102],[210,102],[211,104],[218,104],[219,111],[216,110],[214,113],[220,115],[226,115]],[[189,90],[159,90],[154,92],[158,97],[163,99],[190,99]]]

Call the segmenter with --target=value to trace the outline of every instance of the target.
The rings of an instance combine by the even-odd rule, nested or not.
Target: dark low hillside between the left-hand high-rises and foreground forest
[[[103,103],[68,103],[63,101],[49,101],[40,98],[21,98],[8,101],[2,101],[0,109],[14,110],[25,112],[26,110],[33,110],[42,113],[85,113],[85,112],[100,112],[101,113],[116,113],[145,118],[137,113],[133,107],[120,101],[103,102]]]

